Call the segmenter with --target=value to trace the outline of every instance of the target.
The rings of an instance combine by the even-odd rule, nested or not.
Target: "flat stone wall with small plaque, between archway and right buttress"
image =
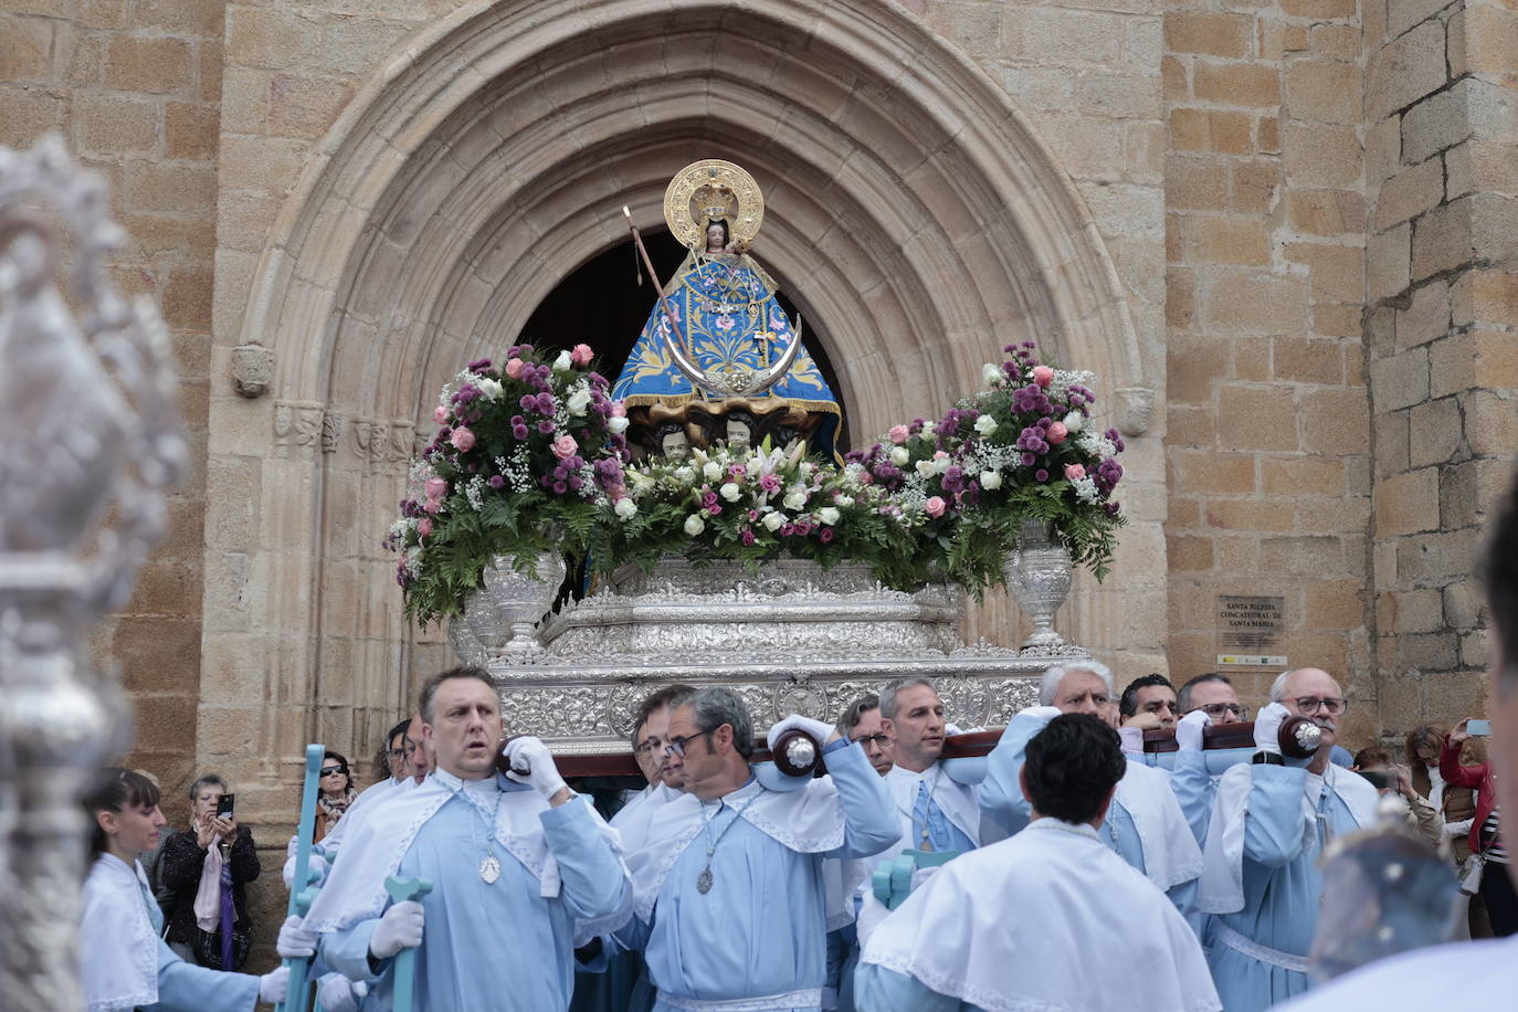
[[[1217,595],[1281,596],[1268,652],[1340,675],[1365,734],[1360,8],[1170,5],[1164,47],[1170,671],[1216,669]],[[1230,674],[1258,704],[1277,672]]]

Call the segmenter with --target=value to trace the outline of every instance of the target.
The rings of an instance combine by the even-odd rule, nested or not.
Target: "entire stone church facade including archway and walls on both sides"
[[[131,762],[288,824],[305,742],[373,750],[448,657],[380,546],[436,390],[704,156],[856,434],[1009,340],[1101,376],[1131,523],[1061,627],[1120,677],[1214,669],[1263,595],[1351,740],[1479,712],[1515,90],[1501,0],[5,0],[0,143],[108,176],[181,364],[193,466],[96,643]]]

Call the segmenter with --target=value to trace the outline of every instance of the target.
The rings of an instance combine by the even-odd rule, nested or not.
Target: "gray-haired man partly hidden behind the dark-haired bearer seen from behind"
[[[1038,702],[1008,722],[1002,740],[991,750],[981,783],[982,818],[1006,833],[1022,831],[1032,818],[1020,786],[1028,742],[1061,713],[1108,719],[1114,702],[1113,672],[1090,658],[1055,665],[1043,674]],[[1119,857],[1167,892],[1176,909],[1199,929],[1193,901],[1196,877],[1202,874],[1202,851],[1164,772],[1142,759],[1129,759],[1098,833]]]

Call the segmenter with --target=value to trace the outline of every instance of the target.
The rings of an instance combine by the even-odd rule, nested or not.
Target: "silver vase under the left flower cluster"
[[[463,628],[455,634],[455,624],[449,622],[448,637],[461,658],[483,663],[502,652],[525,654],[537,648],[536,625],[553,607],[568,569],[562,554],[548,551],[537,557],[533,570],[516,572],[505,557],[486,566],[483,586],[465,599]]]

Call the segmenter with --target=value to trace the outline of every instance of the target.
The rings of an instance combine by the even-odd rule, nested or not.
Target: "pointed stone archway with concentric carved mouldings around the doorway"
[[[266,346],[276,369],[273,398],[211,410],[213,481],[260,504],[247,531],[219,522],[217,502],[206,526],[206,663],[238,668],[243,690],[208,692],[202,722],[252,722],[228,762],[288,762],[313,734],[372,740],[405,709],[410,675],[442,648],[407,634],[380,539],[436,390],[624,243],[621,205],[657,222],[671,171],[715,155],[767,187],[756,253],[829,322],[861,437],[941,411],[1026,337],[1104,390],[1161,385],[1049,149],[903,9],[469,5],[411,39],[331,129],[240,332],[217,335],[223,355]],[[1079,590],[1064,616],[1099,649],[1131,646],[1129,628],[1158,643],[1164,627],[1163,507],[1143,505],[1163,495],[1140,504],[1128,540],[1145,566]],[[1009,613],[993,601],[972,625],[1006,639]],[[310,719],[257,712],[260,689]]]

